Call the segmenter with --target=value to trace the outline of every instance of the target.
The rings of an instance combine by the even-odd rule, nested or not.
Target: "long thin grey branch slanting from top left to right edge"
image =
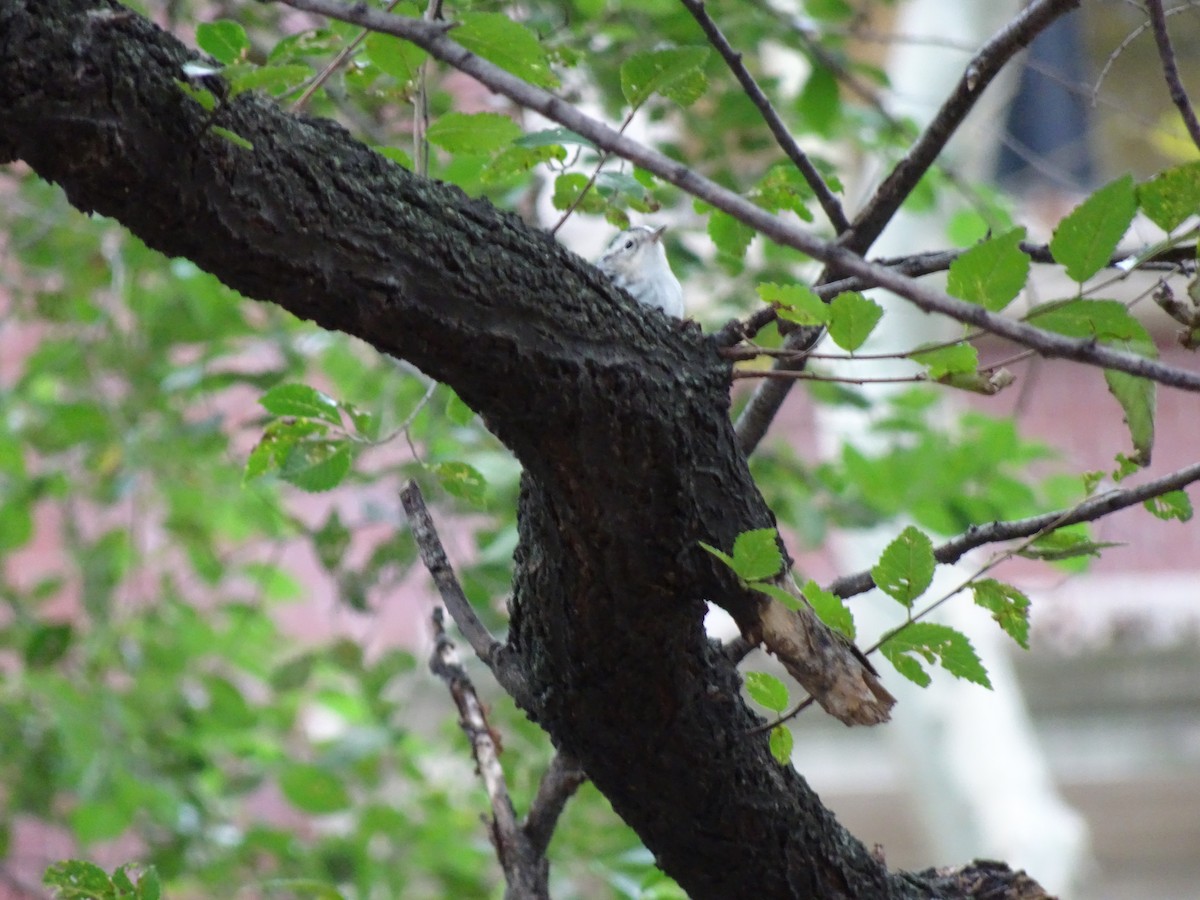
[[[547,119],[587,137],[599,148],[611,150],[618,156],[641,166],[647,172],[678,186],[692,197],[697,197],[728,212],[738,221],[757,229],[776,244],[793,247],[802,253],[822,259],[846,275],[857,275],[868,281],[874,281],[880,287],[906,298],[925,312],[937,312],[958,322],[986,329],[1001,337],[1007,337],[1010,341],[1030,347],[1045,356],[1060,356],[1062,359],[1087,362],[1150,378],[1151,380],[1175,388],[1200,391],[1200,373],[1172,368],[1156,360],[1114,350],[1109,347],[1099,346],[1094,341],[1062,337],[1061,335],[1043,331],[1032,325],[1013,322],[1012,319],[988,312],[980,306],[956,300],[947,294],[924,287],[912,278],[886,266],[869,263],[845,247],[823,241],[814,234],[739,197],[734,192],[721,187],[683,163],[671,160],[656,150],[652,150],[623,134],[618,134],[608,126],[583,115],[572,104],[556,97],[548,91],[535,88],[469,53],[466,48],[445,36],[445,26],[402,16],[386,16],[377,10],[362,6],[350,7],[337,0],[282,0],[282,2],[298,10],[330,16],[331,18],[365,25],[409,40],[427,50],[431,55],[476,78],[480,83],[505,95],[514,102],[541,113]],[[1027,23],[1036,12],[1040,12],[1042,17],[1046,17],[1049,14],[1046,10],[1052,8],[1055,10],[1055,14],[1057,14],[1057,12],[1061,12],[1057,10],[1058,6],[1068,6],[1074,2],[1078,2],[1078,0],[1042,0],[1040,2],[1036,2],[1026,13],[1016,19],[1013,28],[1006,29],[1002,35],[1008,35],[1012,31],[1024,34],[1020,26],[1024,24],[1027,29]],[[1034,20],[1040,19],[1034,17]],[[989,58],[989,64],[994,65],[995,59]]]

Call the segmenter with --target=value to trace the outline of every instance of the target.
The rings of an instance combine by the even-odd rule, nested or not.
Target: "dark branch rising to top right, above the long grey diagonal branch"
[[[1008,23],[1000,34],[985,43],[967,64],[962,77],[949,97],[925,127],[920,138],[905,157],[896,163],[875,196],[854,218],[850,234],[841,242],[859,253],[880,236],[883,228],[900,209],[900,204],[912,192],[917,182],[934,164],[947,142],[954,136],[983,95],[984,89],[1008,64],[1008,61],[1060,16],[1079,6],[1080,0],[1034,0],[1025,11]]]

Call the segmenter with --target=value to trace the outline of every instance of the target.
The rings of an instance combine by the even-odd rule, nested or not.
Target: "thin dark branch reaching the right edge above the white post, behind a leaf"
[[[1051,526],[1062,528],[1069,524],[1078,524],[1079,522],[1093,522],[1127,506],[1144,503],[1154,497],[1162,497],[1171,491],[1182,490],[1194,481],[1200,481],[1200,463],[1178,469],[1138,487],[1108,491],[1098,497],[1084,500],[1069,510],[1045,512],[1040,516],[1019,518],[1012,522],[972,526],[958,538],[952,538],[946,544],[936,547],[934,550],[934,558],[938,563],[956,563],[968,551],[982,547],[985,544],[1028,538]],[[874,587],[875,581],[871,578],[870,572],[858,572],[857,575],[847,575],[838,578],[828,587],[828,590],[845,598],[863,594]]]

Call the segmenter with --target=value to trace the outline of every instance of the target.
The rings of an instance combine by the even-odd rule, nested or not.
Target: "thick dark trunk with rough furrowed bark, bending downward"
[[[526,710],[689,894],[971,895],[889,874],[749,733],[703,600],[744,628],[762,601],[697,541],[730,547],[773,517],[715,347],[336,125],[242,96],[215,121],[253,150],[215,134],[175,85],[190,55],[110,0],[6,0],[0,161],[247,296],[412,361],[484,416],[526,468],[500,650],[526,674]]]

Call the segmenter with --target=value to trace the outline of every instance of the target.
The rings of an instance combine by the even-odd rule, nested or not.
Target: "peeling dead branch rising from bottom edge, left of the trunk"
[[[541,852],[534,852],[524,830],[517,824],[512,799],[504,784],[499,740],[487,724],[484,706],[458,661],[454,642],[446,637],[440,607],[433,611],[433,635],[436,643],[430,656],[430,670],[450,689],[450,696],[458,707],[458,724],[470,740],[479,776],[487,791],[492,806],[492,844],[504,869],[504,896],[511,900],[550,900],[550,865]]]

